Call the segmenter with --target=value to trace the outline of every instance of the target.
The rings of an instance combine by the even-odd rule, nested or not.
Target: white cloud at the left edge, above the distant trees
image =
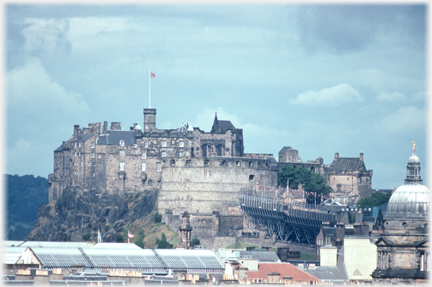
[[[45,111],[90,110],[80,94],[54,81],[36,58],[7,73],[7,100],[11,106],[29,105]]]

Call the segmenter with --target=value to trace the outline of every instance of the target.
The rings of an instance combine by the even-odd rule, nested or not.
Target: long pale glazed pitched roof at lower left
[[[224,269],[212,250],[141,249],[127,243],[97,243],[94,248],[88,248],[84,244],[35,242],[29,244],[31,247],[7,247],[3,262],[13,264],[26,248],[31,248],[45,268],[71,268],[75,264],[83,264],[86,268]]]

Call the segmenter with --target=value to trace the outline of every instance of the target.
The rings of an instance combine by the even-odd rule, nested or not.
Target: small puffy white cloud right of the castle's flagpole
[[[339,85],[324,88],[322,90],[308,90],[291,100],[291,104],[316,106],[316,105],[331,105],[340,106],[343,103],[361,102],[363,97],[360,93],[348,84],[341,83]]]

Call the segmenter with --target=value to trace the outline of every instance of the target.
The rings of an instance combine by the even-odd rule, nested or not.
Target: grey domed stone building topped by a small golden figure
[[[405,184],[397,188],[387,204],[384,230],[377,246],[374,282],[426,282],[430,271],[428,250],[429,188],[420,177],[420,160],[408,159]]]

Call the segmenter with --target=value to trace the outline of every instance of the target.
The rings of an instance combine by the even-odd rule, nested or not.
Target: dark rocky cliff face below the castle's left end
[[[138,194],[95,194],[67,188],[61,197],[38,209],[37,222],[25,240],[97,241],[100,230],[104,242],[115,242],[117,234],[143,226],[153,214],[157,190]]]

